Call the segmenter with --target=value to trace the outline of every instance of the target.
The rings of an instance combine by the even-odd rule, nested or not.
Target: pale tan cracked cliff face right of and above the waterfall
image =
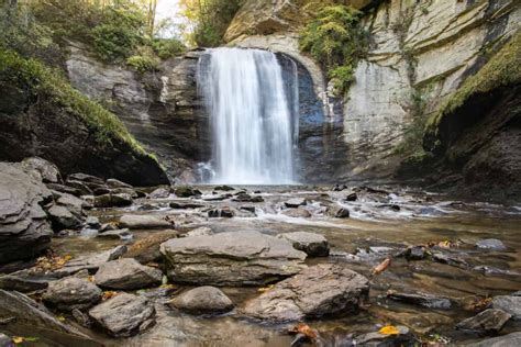
[[[413,117],[434,114],[521,22],[521,4],[514,0],[352,3],[365,13],[370,48],[339,112],[331,107],[334,99],[328,94],[323,71],[298,52],[298,31],[307,15],[301,9],[309,3],[246,1],[226,38],[239,46],[287,53],[312,71],[328,121],[341,119],[342,136],[330,136],[330,146],[346,148],[339,163],[342,170],[335,172],[340,180],[397,179],[403,158],[395,149]]]

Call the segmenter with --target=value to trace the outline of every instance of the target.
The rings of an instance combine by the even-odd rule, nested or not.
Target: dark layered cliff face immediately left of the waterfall
[[[199,52],[163,63],[158,71],[137,74],[93,58],[74,44],[67,59],[71,85],[98,100],[155,153],[174,181],[193,182],[197,163],[208,160],[208,126],[197,94]]]

